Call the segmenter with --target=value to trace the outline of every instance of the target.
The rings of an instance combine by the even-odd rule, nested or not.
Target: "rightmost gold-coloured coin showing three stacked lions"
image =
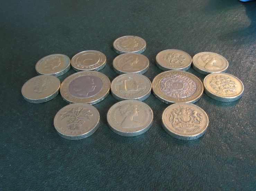
[[[217,101],[232,102],[240,99],[244,93],[243,83],[227,73],[213,73],[203,80],[204,92]]]

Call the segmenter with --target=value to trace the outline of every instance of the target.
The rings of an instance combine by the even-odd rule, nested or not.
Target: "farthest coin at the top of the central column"
[[[114,51],[117,54],[123,53],[139,53],[146,50],[146,41],[136,36],[124,36],[116,39],[113,43]]]

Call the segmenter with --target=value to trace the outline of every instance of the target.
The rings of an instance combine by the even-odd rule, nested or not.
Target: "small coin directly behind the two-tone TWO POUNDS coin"
[[[156,65],[161,70],[183,70],[186,71],[191,67],[192,58],[188,53],[168,49],[159,52],[156,56]]]

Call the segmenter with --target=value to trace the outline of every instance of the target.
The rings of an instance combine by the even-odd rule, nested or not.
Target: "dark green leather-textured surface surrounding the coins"
[[[192,1],[1,1],[0,190],[255,190],[256,189],[256,2]],[[36,76],[35,64],[54,53],[70,58],[84,50],[107,57],[101,70],[117,74],[113,41],[135,35],[147,41],[144,75],[161,72],[156,54],[179,49],[194,56],[210,51],[229,61],[245,86],[243,97],[222,103],[206,94],[195,104],[209,116],[206,134],[194,141],[170,137],[161,127],[168,106],[150,95],[153,125],[138,137],[107,126],[111,94],[95,105],[101,124],[89,138],[61,138],[53,118],[67,105],[57,96],[26,102],[21,87]],[[188,70],[199,77],[192,68]],[[70,74],[59,77],[63,81]]]

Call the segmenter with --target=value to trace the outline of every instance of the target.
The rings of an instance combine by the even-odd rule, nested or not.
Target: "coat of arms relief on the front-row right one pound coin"
[[[202,114],[197,113],[193,108],[185,108],[180,105],[167,115],[174,128],[193,129],[195,126],[201,126]]]

